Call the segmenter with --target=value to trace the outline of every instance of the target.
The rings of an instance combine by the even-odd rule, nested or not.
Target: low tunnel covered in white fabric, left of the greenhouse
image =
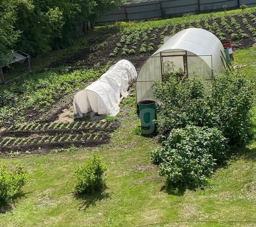
[[[75,94],[74,116],[79,118],[89,112],[116,116],[119,112],[120,96],[128,95],[129,84],[136,78],[137,72],[131,62],[117,62],[100,79]]]

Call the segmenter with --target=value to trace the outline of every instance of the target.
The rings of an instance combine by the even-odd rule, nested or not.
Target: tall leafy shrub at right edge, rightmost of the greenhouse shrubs
[[[246,75],[238,72],[213,78],[208,106],[214,115],[214,124],[231,145],[242,145],[249,139],[254,89],[255,85]]]

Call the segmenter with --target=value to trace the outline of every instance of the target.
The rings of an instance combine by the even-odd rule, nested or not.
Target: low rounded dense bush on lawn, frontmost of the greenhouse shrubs
[[[159,174],[169,188],[202,187],[227,148],[227,139],[217,128],[187,126],[173,129],[151,159],[160,164]]]

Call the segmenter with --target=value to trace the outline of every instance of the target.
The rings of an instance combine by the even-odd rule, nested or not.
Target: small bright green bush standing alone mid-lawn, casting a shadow
[[[106,166],[101,163],[100,156],[94,154],[86,159],[85,163],[74,170],[75,192],[86,194],[90,192],[101,192],[106,188],[106,177],[103,173]]]

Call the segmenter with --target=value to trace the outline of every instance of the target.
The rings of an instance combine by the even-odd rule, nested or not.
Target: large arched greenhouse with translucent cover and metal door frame
[[[164,43],[142,66],[136,81],[137,103],[142,100],[158,102],[152,94],[152,85],[162,80],[162,64],[174,62],[174,70],[187,67],[187,76],[197,76],[210,80],[212,70],[219,74],[225,71],[222,53],[224,48],[220,40],[212,33],[200,28],[184,29]],[[187,66],[184,58],[187,59]],[[223,62],[222,62],[223,61]]]

